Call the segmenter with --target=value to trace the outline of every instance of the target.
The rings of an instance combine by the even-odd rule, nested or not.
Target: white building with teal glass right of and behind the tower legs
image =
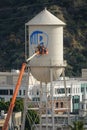
[[[45,101],[46,94],[48,95],[48,101],[50,98],[50,83],[47,85],[47,90],[45,89],[45,84],[43,84],[43,100]],[[71,113],[81,113],[84,111],[83,108],[87,109],[87,80],[83,78],[66,78],[66,92],[68,100],[68,108]],[[34,85],[31,89],[30,96],[33,101],[40,100],[40,86],[38,84]],[[63,79],[53,81],[53,98],[54,107],[57,111],[64,110],[65,107],[65,88]],[[67,105],[67,104],[66,104]],[[63,111],[64,112],[64,111]],[[83,115],[83,113],[82,113]]]

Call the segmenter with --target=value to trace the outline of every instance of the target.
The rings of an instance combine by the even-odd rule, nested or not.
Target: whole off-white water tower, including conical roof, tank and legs
[[[63,27],[65,23],[51,14],[48,10],[44,9],[33,19],[25,24],[25,58],[26,60],[35,53],[38,45],[45,46],[48,50],[47,55],[37,55],[28,62],[27,67],[29,73],[40,81],[40,101],[30,101],[30,103],[39,104],[38,108],[28,108],[29,99],[27,94],[25,98],[24,113],[22,130],[24,130],[24,122],[27,110],[39,110],[40,124],[35,123],[35,130],[43,130],[42,111],[45,109],[46,114],[46,129],[49,130],[48,123],[48,97],[47,97],[47,83],[50,82],[50,99],[51,99],[51,117],[52,123],[50,124],[54,130],[54,99],[53,99],[53,85],[52,81],[56,80],[66,67],[63,59]],[[45,102],[43,104],[43,90],[42,82],[45,82]],[[26,91],[27,93],[27,91]],[[32,105],[31,105],[32,106]],[[43,107],[44,106],[44,107]],[[26,110],[27,109],[27,110]],[[31,128],[32,129],[32,128]]]

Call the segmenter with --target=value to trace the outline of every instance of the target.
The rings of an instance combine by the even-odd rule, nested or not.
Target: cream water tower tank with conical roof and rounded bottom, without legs
[[[51,66],[54,68],[53,80],[56,80],[62,73],[62,67],[57,68],[56,66],[64,66],[64,25],[64,22],[46,9],[26,23],[29,38],[29,56],[33,55],[35,48],[39,44],[44,45],[48,49],[48,55],[35,56],[29,63],[32,75],[39,81],[50,82]]]

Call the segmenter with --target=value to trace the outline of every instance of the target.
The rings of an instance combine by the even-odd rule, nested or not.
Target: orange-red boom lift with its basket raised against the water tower
[[[36,55],[43,55],[43,54],[48,54],[47,48],[45,48],[44,46],[38,45],[36,47],[35,53],[30,58],[28,58],[26,61],[27,62],[30,61]],[[10,116],[11,116],[11,114],[13,112],[13,108],[15,106],[16,97],[17,97],[17,94],[18,94],[18,91],[19,91],[19,88],[20,88],[20,85],[21,85],[21,81],[22,81],[22,77],[23,77],[25,68],[26,68],[26,63],[23,63],[2,130],[8,130],[8,124],[9,124]]]

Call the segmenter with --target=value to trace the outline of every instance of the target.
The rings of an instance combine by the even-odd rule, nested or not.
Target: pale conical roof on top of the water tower
[[[47,9],[44,9],[34,18],[32,18],[26,25],[65,25],[60,19],[51,14]]]

